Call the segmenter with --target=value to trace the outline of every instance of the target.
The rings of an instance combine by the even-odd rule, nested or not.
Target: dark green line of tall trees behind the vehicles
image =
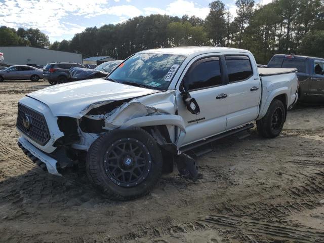
[[[259,63],[267,63],[276,53],[324,57],[324,0],[273,0],[264,6],[237,0],[235,5],[235,17],[217,0],[209,4],[206,19],[138,16],[119,24],[89,27],[71,40],[52,44],[38,29],[16,31],[3,26],[0,46],[30,45],[124,59],[144,49],[220,44],[248,49]],[[4,32],[10,37],[1,37]]]

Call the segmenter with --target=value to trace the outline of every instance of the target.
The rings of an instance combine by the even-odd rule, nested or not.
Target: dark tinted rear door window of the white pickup
[[[226,57],[227,58],[227,57]],[[242,57],[243,58],[243,57]],[[229,83],[247,79],[253,75],[250,59],[226,59]]]

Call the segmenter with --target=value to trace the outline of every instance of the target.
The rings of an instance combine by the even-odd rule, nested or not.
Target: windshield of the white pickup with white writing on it
[[[165,90],[186,56],[139,53],[119,65],[108,78],[119,83]]]

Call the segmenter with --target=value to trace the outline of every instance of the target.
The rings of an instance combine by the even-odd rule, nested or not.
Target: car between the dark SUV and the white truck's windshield
[[[73,67],[70,69],[70,81],[106,77],[121,62],[123,62],[123,60],[104,62],[94,69]]]

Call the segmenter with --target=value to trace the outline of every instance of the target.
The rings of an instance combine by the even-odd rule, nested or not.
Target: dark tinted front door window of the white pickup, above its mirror
[[[185,77],[186,90],[195,90],[220,85],[221,68],[219,60],[199,61],[189,70]]]

